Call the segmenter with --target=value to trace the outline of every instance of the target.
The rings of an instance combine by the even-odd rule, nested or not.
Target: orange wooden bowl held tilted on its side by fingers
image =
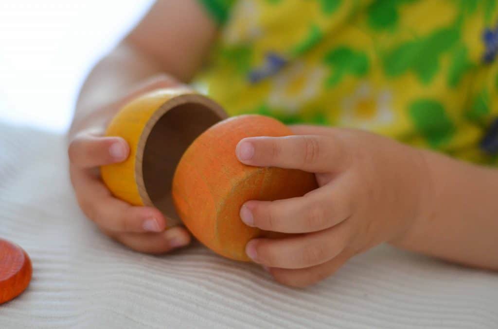
[[[239,215],[242,205],[302,196],[317,187],[312,173],[243,165],[236,157],[243,138],[288,135],[290,129],[275,119],[245,115],[217,123],[185,151],[173,178],[173,201],[185,226],[205,246],[249,261],[249,240],[275,234],[245,225]]]

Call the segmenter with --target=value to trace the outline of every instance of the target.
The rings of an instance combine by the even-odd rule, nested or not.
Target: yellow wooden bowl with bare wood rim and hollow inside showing
[[[171,199],[176,165],[206,129],[228,115],[213,100],[187,88],[160,89],[126,104],[113,118],[107,136],[128,142],[129,157],[101,167],[102,179],[118,198],[154,206],[167,226],[181,223]]]

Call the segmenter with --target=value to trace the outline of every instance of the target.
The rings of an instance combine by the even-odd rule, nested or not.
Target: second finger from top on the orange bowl
[[[342,180],[339,178],[303,197],[248,201],[241,208],[241,219],[246,225],[265,231],[308,233],[328,229],[351,214],[350,188]]]

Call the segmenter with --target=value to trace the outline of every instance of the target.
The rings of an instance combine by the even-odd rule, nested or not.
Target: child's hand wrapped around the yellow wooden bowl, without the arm
[[[120,137],[102,135],[119,108],[132,98],[176,84],[172,79],[155,78],[119,101],[93,111],[74,129],[68,149],[71,182],[85,215],[108,236],[141,252],[163,253],[188,245],[190,235],[181,227],[165,231],[165,219],[159,210],[131,206],[112,196],[100,178],[99,166],[126,160],[129,147]]]

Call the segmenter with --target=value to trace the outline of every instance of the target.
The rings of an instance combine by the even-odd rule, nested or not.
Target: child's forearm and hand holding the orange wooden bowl
[[[293,129],[297,136],[248,138],[236,150],[247,165],[314,172],[320,186],[241,209],[249,226],[297,234],[246,247],[278,281],[309,285],[383,242],[498,270],[498,170],[363,131]]]

